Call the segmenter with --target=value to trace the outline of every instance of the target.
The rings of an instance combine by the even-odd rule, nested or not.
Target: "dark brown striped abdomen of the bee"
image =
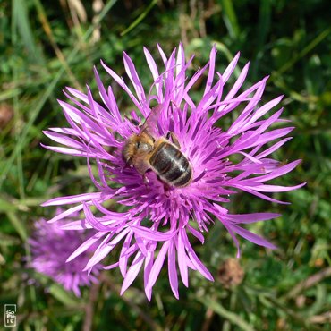
[[[191,182],[190,162],[180,149],[169,142],[162,141],[157,145],[149,158],[149,164],[160,180],[171,186],[184,187]]]

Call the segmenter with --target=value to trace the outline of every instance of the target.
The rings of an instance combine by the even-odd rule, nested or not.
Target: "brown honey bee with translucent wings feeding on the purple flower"
[[[185,187],[190,184],[193,171],[190,161],[182,154],[181,145],[174,132],[168,132],[166,137],[155,138],[157,117],[161,109],[160,105],[153,108],[140,133],[133,133],[125,141],[123,160],[127,165],[134,166],[145,181],[146,172],[151,170],[165,184],[177,188]]]

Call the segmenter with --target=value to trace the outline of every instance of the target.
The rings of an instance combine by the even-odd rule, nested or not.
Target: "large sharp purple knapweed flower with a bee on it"
[[[123,63],[126,81],[101,62],[113,80],[112,83],[117,83],[132,100],[131,118],[121,114],[113,89],[104,86],[95,69],[98,98],[101,98],[101,102],[93,98],[89,87],[86,93],[68,88],[64,94],[70,102],[59,103],[69,127],[52,128],[45,132],[47,137],[64,145],[47,146],[48,149],[72,157],[87,158],[90,178],[96,186],[93,193],[82,192],[44,203],[44,206],[74,205],[62,215],[55,216],[51,222],[83,210],[84,219],[71,222],[64,228],[87,228],[98,232],[75,250],[69,260],[76,259],[98,242],[98,249],[85,267],[90,269],[111,255],[116,246],[121,245],[118,260],[105,268],[120,268],[123,275],[122,293],[132,284],[140,270],[143,270],[145,293],[149,300],[153,285],[165,263],[176,298],[179,296],[178,277],[188,286],[190,268],[199,271],[208,280],[213,280],[190,240],[195,237],[203,243],[203,233],[214,222],[221,222],[225,226],[238,247],[238,255],[237,234],[258,245],[275,248],[272,243],[241,225],[268,220],[278,215],[229,214],[226,204],[234,193],[246,191],[261,199],[284,203],[266,193],[291,191],[301,187],[266,184],[290,172],[300,162],[284,165],[271,157],[276,149],[290,140],[284,137],[293,127],[270,129],[272,124],[284,120],[280,119],[283,109],[276,107],[282,97],[259,105],[267,78],[249,89],[241,90],[249,69],[247,64],[233,86],[226,87],[228,92],[225,95],[225,84],[233,76],[239,54],[233,58],[225,72],[219,73],[215,69],[216,48],[213,47],[208,64],[189,77],[192,58],[185,60],[182,44],[169,57],[161,47],[158,47],[158,52],[162,68],[149,51],[144,49],[153,80],[152,85],[145,89],[132,59],[125,53]],[[200,84],[203,79],[206,84],[201,98],[194,101],[191,96],[192,87],[197,81]],[[239,109],[242,110],[241,113],[230,127],[225,128],[222,121],[224,116]],[[272,115],[266,117],[268,112],[272,112]],[[128,165],[123,160],[125,141],[132,134],[139,137],[147,119],[153,120],[150,123],[154,123],[154,127],[149,124],[149,131],[154,132],[154,140],[167,137],[168,132],[174,133],[182,155],[191,164],[192,179],[189,185],[168,185],[161,181],[162,177],[155,170],[149,169],[144,175],[138,171],[138,166],[135,165],[139,161],[146,165],[144,157],[150,157],[153,153],[150,150],[151,145],[141,147],[140,142],[136,141],[134,148],[146,148],[145,154],[136,156],[136,163],[133,165]],[[91,161],[97,165],[98,176],[92,172]],[[176,166],[178,170],[182,163],[166,166]],[[121,212],[105,207],[105,202],[109,199],[122,206]],[[97,212],[92,213],[92,210]]]

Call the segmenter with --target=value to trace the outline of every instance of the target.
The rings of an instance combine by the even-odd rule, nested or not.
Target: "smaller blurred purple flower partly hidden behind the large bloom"
[[[31,247],[30,267],[38,273],[49,276],[62,284],[66,291],[81,296],[80,286],[97,283],[101,265],[97,264],[88,273],[83,271],[91,257],[85,250],[77,259],[66,263],[66,259],[86,240],[84,231],[69,232],[60,228],[64,221],[48,224],[43,218],[34,224],[34,232],[29,240]]]

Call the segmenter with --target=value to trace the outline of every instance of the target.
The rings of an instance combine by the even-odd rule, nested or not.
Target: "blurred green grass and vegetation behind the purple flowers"
[[[13,0],[0,2],[0,325],[4,303],[16,303],[20,330],[330,330],[331,324],[331,28],[327,0]],[[235,248],[215,225],[199,256],[215,283],[190,274],[177,301],[165,270],[150,303],[140,277],[123,297],[118,271],[81,299],[24,266],[34,220],[54,210],[46,199],[93,191],[85,160],[40,147],[42,130],[65,126],[57,98],[62,89],[96,91],[99,60],[123,73],[122,52],[132,56],[149,84],[142,47],[170,52],[182,40],[195,68],[213,44],[222,72],[238,51],[250,61],[248,84],[270,75],[265,100],[284,94],[284,117],[294,139],[276,153],[302,164],[279,180],[307,182],[278,194],[280,206],[238,194],[233,212],[281,212],[250,230],[279,247],[268,251],[242,240],[242,284],[226,288],[217,272]],[[109,77],[100,70],[105,84]],[[237,72],[238,73],[238,72]],[[149,86],[149,85],[146,85]],[[116,94],[116,90],[115,90]],[[199,90],[197,90],[199,95]],[[123,109],[126,100],[117,94]],[[229,119],[231,120],[231,119]],[[228,123],[225,123],[225,126]],[[36,278],[38,286],[30,285]]]

